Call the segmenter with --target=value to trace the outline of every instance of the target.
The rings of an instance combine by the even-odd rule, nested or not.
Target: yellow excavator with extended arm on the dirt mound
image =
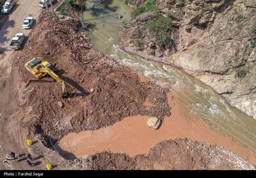
[[[30,82],[54,82],[55,80],[61,84],[62,98],[67,98],[68,93],[66,91],[65,83],[54,72],[56,71],[55,66],[48,63],[47,61],[42,62],[38,57],[36,57],[31,61],[28,61],[28,63],[25,64],[25,68],[37,78],[29,80],[25,87],[27,87]],[[47,76],[52,78],[45,78]]]

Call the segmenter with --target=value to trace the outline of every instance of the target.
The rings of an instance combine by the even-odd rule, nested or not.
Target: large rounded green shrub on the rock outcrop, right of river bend
[[[172,47],[171,28],[171,20],[167,17],[163,17],[163,15],[158,15],[156,19],[148,25],[150,36],[156,38],[158,45],[167,48]]]

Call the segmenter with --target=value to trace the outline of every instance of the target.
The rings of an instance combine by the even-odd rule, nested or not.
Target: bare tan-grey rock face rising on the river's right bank
[[[256,38],[256,1],[178,2],[156,1],[161,14],[172,19],[171,49],[155,45],[147,31],[154,17],[148,15],[132,20],[120,32],[125,50],[182,68],[256,119],[256,48],[250,45]],[[241,70],[246,76],[236,77]]]

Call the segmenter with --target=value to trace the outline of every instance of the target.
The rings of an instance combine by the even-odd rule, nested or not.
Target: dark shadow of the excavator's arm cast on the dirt
[[[63,75],[60,76],[61,80],[76,88],[80,93],[68,93],[65,98],[76,98],[77,96],[88,96],[90,93],[86,91],[81,85],[77,84],[76,81],[71,78],[65,77]]]

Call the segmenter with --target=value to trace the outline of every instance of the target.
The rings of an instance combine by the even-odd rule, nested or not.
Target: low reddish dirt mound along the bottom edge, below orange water
[[[233,152],[188,139],[168,140],[150,149],[147,155],[133,158],[126,154],[100,152],[84,159],[69,161],[69,168],[94,170],[131,169],[254,169]],[[67,165],[65,165],[67,167]]]

